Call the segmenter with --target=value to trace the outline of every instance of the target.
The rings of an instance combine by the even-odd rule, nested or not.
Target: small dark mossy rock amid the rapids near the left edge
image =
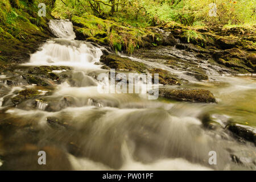
[[[38,97],[40,93],[41,92],[34,89],[22,90],[19,92],[18,96],[11,98],[11,101],[13,102],[14,105],[18,105],[25,100]]]

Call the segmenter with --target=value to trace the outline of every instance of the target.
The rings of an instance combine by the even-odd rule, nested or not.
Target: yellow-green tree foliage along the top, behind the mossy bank
[[[212,0],[56,0],[56,18],[93,14],[124,26],[148,27],[175,21],[186,26],[255,24],[256,0],[219,0],[217,16],[209,16]]]

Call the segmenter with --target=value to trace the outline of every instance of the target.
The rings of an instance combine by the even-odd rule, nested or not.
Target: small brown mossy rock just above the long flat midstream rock
[[[172,75],[170,72],[168,72],[164,69],[154,68],[154,69],[150,69],[149,72],[152,74],[153,82],[154,82],[155,74],[158,74],[159,75],[159,84],[181,85],[181,81],[179,80],[179,78],[177,78],[175,75]]]

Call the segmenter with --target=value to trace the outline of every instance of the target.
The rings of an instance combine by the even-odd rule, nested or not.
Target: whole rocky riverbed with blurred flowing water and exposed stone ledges
[[[79,40],[71,22],[52,20],[59,38],[22,49],[22,59],[2,46],[0,168],[256,169],[255,30],[199,29],[203,38],[188,40],[191,30],[166,24],[131,55],[99,42],[103,33],[85,37],[77,21]],[[158,74],[159,99],[97,93],[97,76],[110,68]],[[39,150],[47,166],[37,164]]]

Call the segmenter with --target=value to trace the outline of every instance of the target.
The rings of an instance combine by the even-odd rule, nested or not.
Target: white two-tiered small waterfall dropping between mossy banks
[[[31,55],[30,65],[65,65],[68,67],[98,69],[94,65],[100,60],[100,48],[75,39],[72,22],[67,20],[51,20],[49,22],[53,34],[58,38],[48,40],[40,51]]]

